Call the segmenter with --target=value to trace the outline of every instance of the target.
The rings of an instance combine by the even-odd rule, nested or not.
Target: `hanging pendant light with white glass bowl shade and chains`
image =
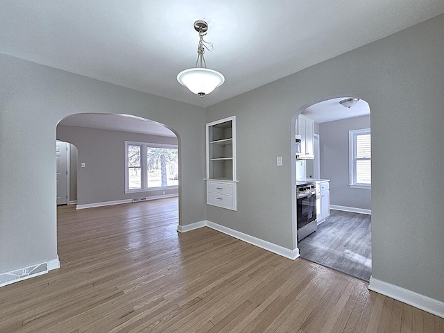
[[[199,44],[197,46],[196,68],[185,69],[178,74],[178,81],[181,85],[185,85],[194,94],[203,95],[210,94],[216,87],[225,82],[225,78],[219,71],[208,69],[203,58],[205,49],[213,50],[213,44],[205,42],[203,36],[207,35],[208,24],[205,21],[198,20],[194,22],[194,28],[199,33]],[[209,47],[210,46],[210,47]]]

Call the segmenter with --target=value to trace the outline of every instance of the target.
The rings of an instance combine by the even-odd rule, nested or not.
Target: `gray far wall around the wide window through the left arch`
[[[166,189],[125,194],[125,141],[178,144],[176,137],[58,125],[57,138],[78,148],[78,205],[178,193]],[[80,168],[80,162],[86,167]]]

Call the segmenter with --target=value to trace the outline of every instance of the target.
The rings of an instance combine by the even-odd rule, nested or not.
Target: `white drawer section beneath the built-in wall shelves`
[[[236,182],[207,180],[207,204],[236,210]]]

